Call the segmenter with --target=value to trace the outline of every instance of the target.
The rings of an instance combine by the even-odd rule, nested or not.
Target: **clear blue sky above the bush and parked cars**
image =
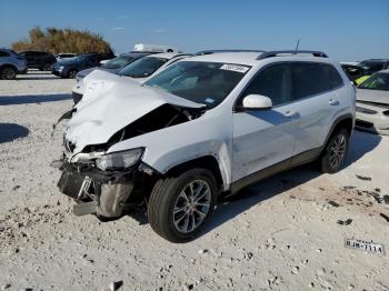
[[[202,49],[301,49],[339,61],[389,58],[389,0],[6,0],[0,47],[33,26],[88,29],[117,53],[134,43]]]

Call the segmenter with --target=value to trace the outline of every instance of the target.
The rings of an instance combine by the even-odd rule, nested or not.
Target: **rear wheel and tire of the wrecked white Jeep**
[[[336,173],[340,170],[349,147],[350,133],[339,129],[332,133],[320,159],[322,173]]]

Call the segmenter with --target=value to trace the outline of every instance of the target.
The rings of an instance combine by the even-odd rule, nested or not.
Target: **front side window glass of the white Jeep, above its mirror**
[[[242,97],[249,94],[266,96],[271,99],[273,106],[291,101],[291,72],[289,64],[272,64],[260,71],[251,80]]]

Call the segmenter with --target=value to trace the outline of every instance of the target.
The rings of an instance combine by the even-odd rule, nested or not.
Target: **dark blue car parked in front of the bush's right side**
[[[101,60],[112,59],[112,53],[84,53],[57,62],[51,72],[61,78],[74,79],[79,71],[99,66]]]

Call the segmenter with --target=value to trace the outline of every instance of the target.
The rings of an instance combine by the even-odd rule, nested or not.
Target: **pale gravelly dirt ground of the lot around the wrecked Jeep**
[[[345,248],[355,238],[389,252],[389,138],[355,131],[341,172],[278,174],[220,203],[196,241],[172,244],[141,215],[71,213],[50,162],[73,82],[0,81],[0,290],[389,290],[388,253]]]

